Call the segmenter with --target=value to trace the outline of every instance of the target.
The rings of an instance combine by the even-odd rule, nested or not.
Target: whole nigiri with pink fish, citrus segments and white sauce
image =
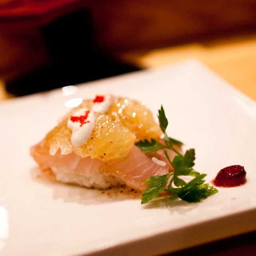
[[[30,154],[60,182],[101,189],[126,184],[142,191],[145,180],[172,167],[161,150],[145,154],[134,143],[161,136],[144,104],[108,94],[83,100]]]

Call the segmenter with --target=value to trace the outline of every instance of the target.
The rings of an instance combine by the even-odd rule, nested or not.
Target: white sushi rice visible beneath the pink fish
[[[112,186],[123,185],[124,182],[112,175],[103,172],[94,173],[75,173],[66,168],[52,167],[56,180],[64,183],[78,184],[88,188],[101,188],[106,189]]]

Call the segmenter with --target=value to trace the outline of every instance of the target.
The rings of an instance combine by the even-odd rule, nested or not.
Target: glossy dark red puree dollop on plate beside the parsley
[[[244,166],[232,165],[221,169],[213,182],[220,187],[236,187],[244,184],[246,182]]]

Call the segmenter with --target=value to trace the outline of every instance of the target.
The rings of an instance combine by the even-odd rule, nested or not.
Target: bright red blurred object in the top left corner
[[[38,27],[86,7],[87,0],[5,0],[0,2],[0,28]]]

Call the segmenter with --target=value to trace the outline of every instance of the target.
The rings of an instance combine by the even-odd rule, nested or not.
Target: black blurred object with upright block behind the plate
[[[62,16],[42,26],[48,63],[6,82],[16,96],[60,88],[138,70],[94,48],[88,11]]]

